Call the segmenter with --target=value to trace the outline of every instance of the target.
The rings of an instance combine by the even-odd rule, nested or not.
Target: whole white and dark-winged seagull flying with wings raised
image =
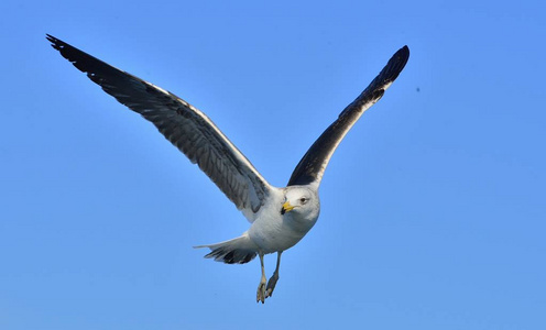
[[[317,222],[318,188],[331,155],[362,113],[383,97],[410,58],[408,47],[400,48],[364,91],[313,143],[286,187],[279,188],[263,178],[205,113],[185,100],[55,36],[47,34],[46,38],[102,90],[151,121],[243,213],[251,224],[239,238],[195,248],[210,249],[205,257],[227,264],[244,264],[258,255],[262,276],[256,302],[262,304],[275,289],[282,253],[298,243]],[[263,257],[275,252],[276,267],[266,280]]]

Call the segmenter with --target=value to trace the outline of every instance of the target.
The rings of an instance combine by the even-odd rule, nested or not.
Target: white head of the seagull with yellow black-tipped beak
[[[307,186],[290,186],[285,189],[285,200],[281,208],[281,215],[292,216],[292,218],[299,220],[316,221],[320,212],[317,191]]]

